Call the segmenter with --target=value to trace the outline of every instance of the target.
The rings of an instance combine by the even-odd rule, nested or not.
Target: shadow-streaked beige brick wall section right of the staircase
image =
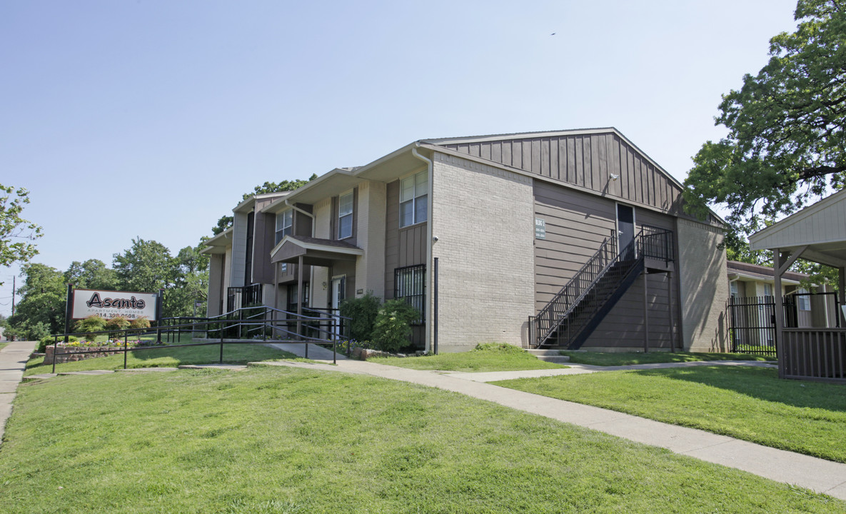
[[[682,341],[692,352],[726,349],[728,281],[722,229],[678,218]]]

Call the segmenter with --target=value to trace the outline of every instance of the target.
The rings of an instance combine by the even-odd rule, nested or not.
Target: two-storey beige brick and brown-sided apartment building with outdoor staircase
[[[426,349],[722,349],[722,221],[682,189],[616,129],[422,139],[242,202],[206,242],[208,314],[372,292],[420,308]]]

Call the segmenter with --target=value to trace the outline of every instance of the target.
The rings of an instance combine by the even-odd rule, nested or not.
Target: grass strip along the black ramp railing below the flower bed
[[[154,347],[149,350],[135,350],[127,354],[127,368],[170,368],[180,364],[214,364],[220,358],[220,346],[197,347]],[[294,353],[283,352],[261,344],[224,344],[225,364],[247,364],[270,359],[294,359]],[[42,364],[43,357],[31,359],[26,364],[24,376],[50,373],[52,364]],[[56,371],[84,371],[88,369],[118,369],[124,367],[123,353],[108,357],[88,358],[74,363],[56,364]]]

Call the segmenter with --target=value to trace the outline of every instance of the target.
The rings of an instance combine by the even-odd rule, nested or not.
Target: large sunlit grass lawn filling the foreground
[[[263,367],[25,383],[0,498],[5,514],[846,510],[449,391]]]

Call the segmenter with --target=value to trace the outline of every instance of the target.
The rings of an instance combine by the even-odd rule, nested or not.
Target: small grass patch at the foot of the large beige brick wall
[[[409,369],[440,369],[443,371],[515,371],[519,369],[566,368],[547,363],[522,348],[510,344],[480,344],[470,352],[441,353],[423,357],[375,357],[371,363],[388,364]]]

